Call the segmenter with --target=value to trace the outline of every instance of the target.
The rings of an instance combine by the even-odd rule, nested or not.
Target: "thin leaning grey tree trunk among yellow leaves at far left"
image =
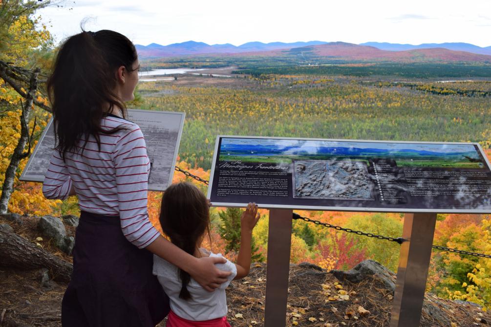
[[[0,214],[7,213],[8,201],[10,200],[10,195],[13,192],[15,173],[21,160],[30,154],[31,144],[29,136],[29,121],[30,113],[32,111],[32,101],[34,101],[34,97],[36,95],[37,76],[39,75],[39,72],[39,68],[36,68],[34,72],[32,72],[29,81],[29,92],[27,92],[26,101],[22,106],[21,137],[19,138],[19,142],[17,142],[17,146],[12,154],[10,164],[5,171],[5,179],[3,180],[2,192],[0,196]],[[29,148],[25,152],[24,149],[26,148],[27,143],[29,144]]]

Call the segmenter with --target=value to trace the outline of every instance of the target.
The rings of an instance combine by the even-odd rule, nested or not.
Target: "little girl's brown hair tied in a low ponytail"
[[[164,192],[160,208],[160,224],[170,241],[178,248],[194,255],[200,238],[210,235],[210,210],[208,200],[194,185],[182,182],[170,185]],[[179,298],[191,299],[186,287],[191,276],[179,269],[182,281]]]

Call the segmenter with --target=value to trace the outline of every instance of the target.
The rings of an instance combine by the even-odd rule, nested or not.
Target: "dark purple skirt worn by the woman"
[[[82,211],[73,275],[61,304],[64,327],[153,327],[169,300],[152,274],[153,256],[121,231],[119,217]]]

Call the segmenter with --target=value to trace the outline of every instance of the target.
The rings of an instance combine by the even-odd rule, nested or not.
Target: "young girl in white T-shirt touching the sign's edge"
[[[167,327],[230,327],[226,320],[225,288],[232,279],[246,277],[250,269],[252,229],[259,220],[257,205],[249,203],[241,218],[241,247],[234,265],[230,261],[218,268],[232,274],[227,282],[210,293],[188,273],[154,255],[153,273],[170,300]],[[210,231],[208,200],[190,183],[172,184],[162,198],[160,223],[170,241],[184,251],[201,257],[220,257],[200,249],[206,232]]]

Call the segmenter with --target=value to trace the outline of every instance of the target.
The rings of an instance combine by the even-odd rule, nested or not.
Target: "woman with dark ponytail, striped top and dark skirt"
[[[56,148],[43,183],[48,199],[77,195],[81,209],[63,326],[155,326],[168,299],[152,275],[152,253],[208,291],[230,274],[175,247],[147,212],[150,163],[139,127],[127,120],[139,63],[133,43],[110,31],[68,38],[48,80]],[[147,251],[148,250],[148,251]]]

